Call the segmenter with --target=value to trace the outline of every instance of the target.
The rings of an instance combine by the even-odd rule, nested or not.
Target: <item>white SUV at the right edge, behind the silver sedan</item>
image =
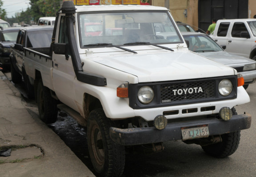
[[[210,35],[225,51],[256,60],[256,19],[221,19]]]

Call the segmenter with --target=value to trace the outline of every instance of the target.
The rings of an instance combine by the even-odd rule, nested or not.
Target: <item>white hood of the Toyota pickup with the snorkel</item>
[[[191,51],[108,55],[92,61],[130,73],[139,82],[173,81],[236,74],[236,70]]]

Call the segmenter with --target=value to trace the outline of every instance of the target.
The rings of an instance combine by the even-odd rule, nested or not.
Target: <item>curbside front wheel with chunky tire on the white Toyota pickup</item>
[[[113,142],[109,135],[113,124],[101,108],[93,110],[88,117],[88,150],[100,177],[120,177],[124,171],[124,146]]]

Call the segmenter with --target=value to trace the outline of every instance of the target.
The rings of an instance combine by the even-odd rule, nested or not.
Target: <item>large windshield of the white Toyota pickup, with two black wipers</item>
[[[95,43],[180,43],[167,12],[80,14],[81,47]]]

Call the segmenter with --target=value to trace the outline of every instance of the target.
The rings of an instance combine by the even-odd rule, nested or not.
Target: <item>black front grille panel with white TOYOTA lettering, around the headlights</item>
[[[229,79],[233,85],[232,92],[228,96],[222,96],[218,91],[219,83],[223,79]],[[139,89],[143,86],[149,86],[154,91],[154,99],[148,104],[141,103],[137,96]],[[213,102],[235,99],[236,96],[236,75],[129,85],[129,105],[133,109]]]

